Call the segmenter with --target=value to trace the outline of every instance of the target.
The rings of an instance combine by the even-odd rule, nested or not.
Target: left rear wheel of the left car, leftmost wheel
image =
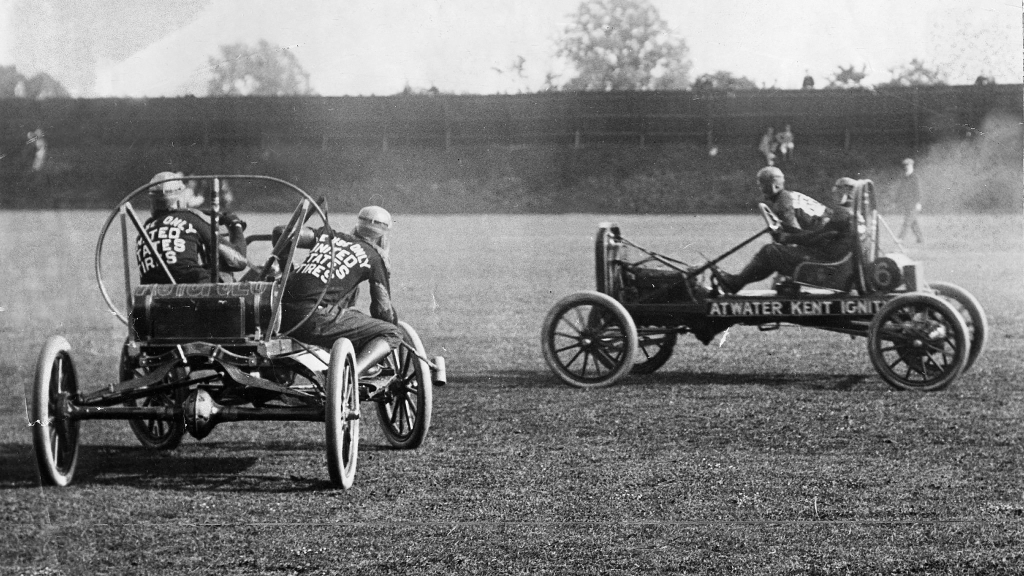
[[[71,359],[71,345],[60,336],[50,336],[39,354],[32,402],[32,444],[43,484],[68,486],[78,464],[80,422],[65,417],[65,399],[78,396],[78,377]]]

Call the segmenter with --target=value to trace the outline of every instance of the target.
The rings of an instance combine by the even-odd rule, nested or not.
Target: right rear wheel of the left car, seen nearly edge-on
[[[359,388],[348,338],[338,338],[331,348],[326,394],[327,469],[331,482],[347,489],[355,480],[359,455]]]

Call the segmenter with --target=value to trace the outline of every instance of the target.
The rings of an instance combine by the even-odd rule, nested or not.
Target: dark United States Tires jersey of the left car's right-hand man
[[[390,291],[387,272],[380,254],[359,239],[321,228],[313,231],[315,244],[301,263],[292,269],[284,301],[287,303],[316,302],[324,284],[328,284],[322,304],[333,305],[347,299],[364,280]],[[334,270],[331,265],[331,242],[334,243]],[[371,293],[373,294],[373,289]],[[373,306],[372,306],[373,307]],[[388,302],[390,307],[390,302]],[[376,315],[375,315],[376,316]]]

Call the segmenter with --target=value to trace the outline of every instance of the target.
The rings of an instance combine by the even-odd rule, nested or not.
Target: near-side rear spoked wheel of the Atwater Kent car
[[[964,318],[938,296],[890,300],[871,320],[867,352],[891,385],[923,392],[948,386],[964,371],[971,342]]]

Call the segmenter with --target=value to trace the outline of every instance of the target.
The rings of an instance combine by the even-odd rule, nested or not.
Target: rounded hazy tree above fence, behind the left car
[[[221,57],[209,59],[213,78],[211,96],[308,95],[309,75],[288,48],[260,40],[255,47],[230,44],[220,47]]]

